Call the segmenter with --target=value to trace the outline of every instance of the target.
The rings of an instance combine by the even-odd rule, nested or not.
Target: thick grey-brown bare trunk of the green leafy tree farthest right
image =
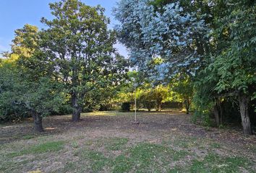
[[[239,94],[239,107],[240,107],[240,114],[241,114],[244,134],[252,135],[252,127],[249,121],[248,102],[249,102],[249,97],[247,97],[246,94],[244,93]]]

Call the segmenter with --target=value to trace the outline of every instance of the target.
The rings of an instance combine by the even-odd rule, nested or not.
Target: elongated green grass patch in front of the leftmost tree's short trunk
[[[22,151],[7,154],[7,157],[22,156],[25,154],[42,154],[46,152],[59,151],[62,148],[64,148],[64,141],[51,141],[39,144],[38,146],[31,146],[30,148],[26,148]]]

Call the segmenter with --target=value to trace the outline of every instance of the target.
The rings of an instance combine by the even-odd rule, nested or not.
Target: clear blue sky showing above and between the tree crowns
[[[14,30],[22,28],[25,24],[45,27],[40,23],[41,17],[52,19],[48,4],[58,0],[0,0],[0,53],[10,50],[14,38]],[[109,27],[113,28],[118,22],[112,15],[112,8],[119,0],[81,0],[86,5],[100,4],[106,9],[106,16],[111,19]],[[122,56],[127,57],[127,50],[123,45],[115,47]]]

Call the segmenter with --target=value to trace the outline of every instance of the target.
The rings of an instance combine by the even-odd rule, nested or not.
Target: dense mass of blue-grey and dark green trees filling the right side
[[[167,84],[187,79],[195,121],[209,124],[213,114],[219,126],[239,114],[251,135],[255,9],[252,0],[121,0],[114,14],[119,40],[145,78]]]

